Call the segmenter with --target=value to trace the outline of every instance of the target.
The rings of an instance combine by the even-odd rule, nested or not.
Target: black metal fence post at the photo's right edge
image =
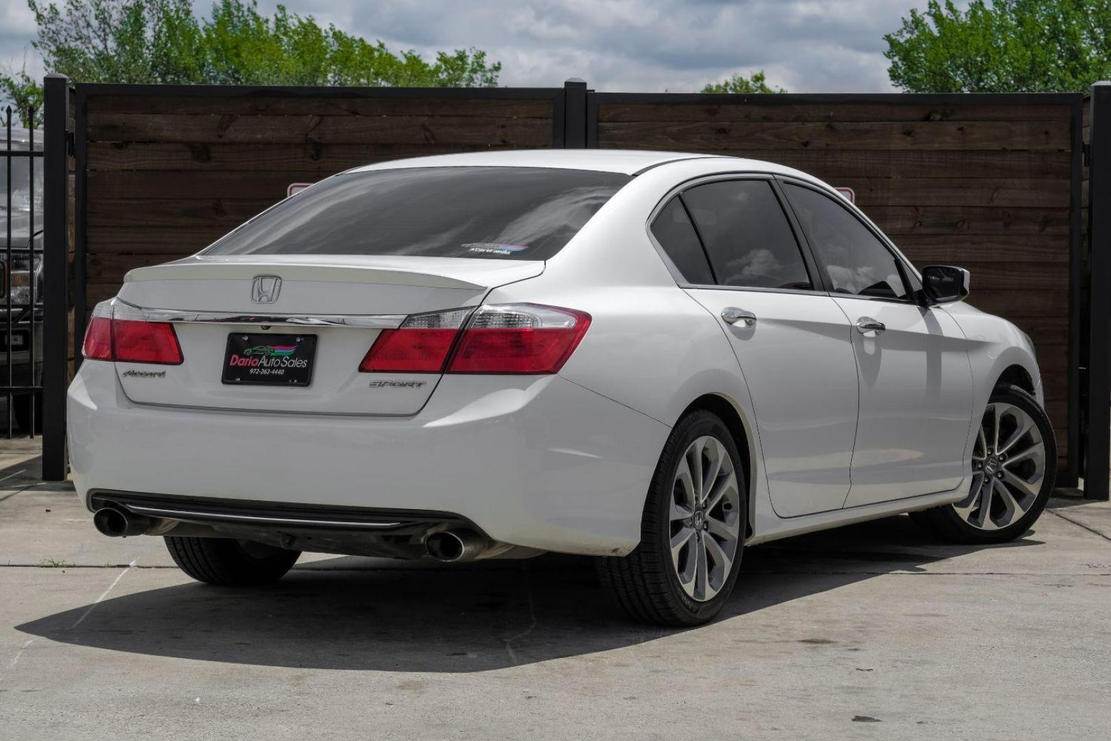
[[[1108,500],[1111,457],[1111,82],[1092,86],[1084,499]]]

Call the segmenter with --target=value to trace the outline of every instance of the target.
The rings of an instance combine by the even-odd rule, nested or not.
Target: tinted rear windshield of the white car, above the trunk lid
[[[204,254],[547,260],[630,179],[481,167],[341,174],[282,201]]]

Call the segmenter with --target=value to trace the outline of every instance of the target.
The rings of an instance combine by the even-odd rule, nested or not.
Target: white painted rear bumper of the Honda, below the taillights
[[[408,418],[134,404],[111,363],[69,391],[79,494],[452,512],[490,538],[624,553],[667,425],[559,377],[447,375]]]

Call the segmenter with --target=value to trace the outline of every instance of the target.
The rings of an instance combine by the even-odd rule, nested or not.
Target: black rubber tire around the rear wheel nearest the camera
[[[728,454],[728,463],[735,477],[733,480],[735,491],[729,490],[729,473],[724,473],[725,462],[722,461],[714,481],[720,488],[708,487],[710,493],[707,494],[708,498],[713,498],[717,493],[720,499],[708,502],[710,505],[704,508],[679,505],[680,501],[687,501],[688,488],[677,477],[681,467],[685,467],[683,470],[692,468],[687,453],[692,450],[692,445],[700,444],[700,441],[705,441],[701,444],[705,445],[703,450],[707,454],[720,455],[721,452]],[[710,441],[715,441],[717,444]],[[714,450],[718,452],[713,453]],[[699,465],[707,460],[702,455],[698,459]],[[691,480],[694,478],[691,477]],[[721,611],[729,600],[740,571],[748,529],[745,481],[747,475],[741,467],[737,444],[720,418],[711,412],[698,410],[680,420],[663,447],[649,487],[641,518],[640,543],[628,555],[600,557],[595,560],[602,587],[630,618],[657,625],[683,627],[708,622]],[[672,518],[673,497],[677,503],[675,518]],[[688,511],[691,517],[682,518]],[[699,523],[703,525],[701,531],[698,528]],[[673,559],[670,542],[672,534],[681,538],[688,530],[693,534],[678,549],[678,555]],[[724,533],[727,530],[735,531],[735,541],[714,534]],[[711,544],[700,545],[707,539],[713,540],[717,552],[723,557],[722,563],[714,562],[712,569],[709,567],[714,552]],[[698,561],[697,557],[699,548],[705,553],[701,561]],[[724,558],[730,554],[731,559]],[[695,558],[694,577],[684,587],[679,572],[690,572],[691,558]],[[724,564],[724,561],[728,561],[728,564]],[[701,572],[698,571],[700,564],[703,569]],[[704,580],[701,579],[701,573],[708,574]],[[704,584],[701,593],[700,583]],[[717,589],[713,588],[714,584]],[[690,589],[693,589],[693,595],[689,592]]]

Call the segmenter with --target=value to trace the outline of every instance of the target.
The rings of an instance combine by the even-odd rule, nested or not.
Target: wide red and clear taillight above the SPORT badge
[[[590,327],[590,314],[530,303],[410,317],[378,336],[364,372],[557,373]],[[457,339],[458,338],[458,339]],[[454,349],[452,350],[452,347]]]

